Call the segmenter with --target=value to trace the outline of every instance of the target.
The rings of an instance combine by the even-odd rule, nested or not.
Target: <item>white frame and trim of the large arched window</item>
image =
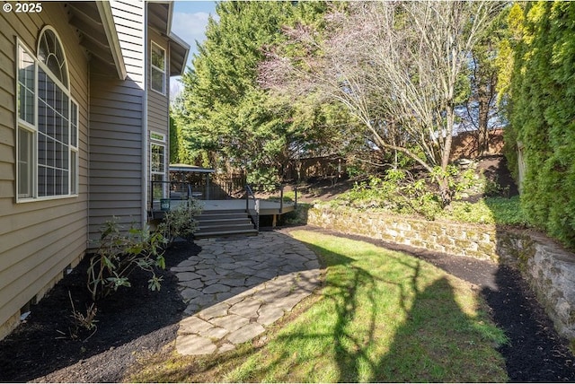
[[[69,71],[66,59],[66,52],[64,46],[62,45],[62,40],[60,39],[57,31],[50,26],[44,27],[39,34],[37,48],[40,47],[40,39],[43,38],[45,31],[52,31],[57,39],[57,44],[59,44],[61,53],[64,55],[63,58],[63,68],[66,71],[66,80],[69,84]],[[57,74],[53,74],[49,69],[48,65],[45,65],[40,61],[38,58],[38,50],[34,54],[31,48],[29,48],[19,37],[16,37],[16,44],[15,44],[15,128],[16,128],[16,142],[15,142],[15,152],[16,152],[16,179],[14,183],[15,189],[15,199],[16,203],[28,203],[33,201],[44,201],[44,200],[55,200],[55,199],[62,199],[62,198],[70,198],[76,197],[79,195],[79,133],[80,133],[80,122],[79,122],[79,104],[77,101],[72,97],[71,91],[68,85],[62,83],[58,78]],[[21,71],[21,55],[25,54],[28,57],[31,57],[33,62],[33,124],[30,122],[22,119],[20,117],[20,97],[21,97],[21,85],[20,85],[20,71]],[[40,70],[46,74],[47,78],[50,82],[54,83],[57,88],[59,88],[59,92],[62,92],[66,96],[66,103],[67,103],[67,142],[64,142],[66,151],[67,151],[67,163],[66,163],[66,171],[67,171],[67,186],[65,184],[55,184],[55,187],[58,186],[66,187],[66,194],[61,195],[50,195],[50,196],[39,196],[39,132],[40,132],[40,123],[39,123],[39,75]],[[59,109],[56,109],[59,110]],[[74,112],[74,113],[73,113]],[[73,127],[72,121],[75,121],[75,127]],[[75,129],[75,134],[73,135],[73,129]],[[28,182],[31,183],[28,186],[28,190],[30,191],[30,195],[21,193],[20,190],[20,181],[21,181],[21,167],[22,164],[20,163],[20,148],[21,148],[21,138],[20,132],[21,130],[25,130],[31,134],[31,164],[29,164],[29,172],[30,174],[27,176]],[[75,137],[76,142],[72,143],[72,138]],[[72,156],[75,157],[75,164],[72,161]],[[73,167],[74,166],[74,167]]]

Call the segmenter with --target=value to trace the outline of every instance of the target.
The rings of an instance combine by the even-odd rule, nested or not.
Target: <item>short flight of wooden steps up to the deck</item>
[[[242,209],[203,211],[196,220],[198,230],[194,233],[195,239],[258,234],[250,214]]]

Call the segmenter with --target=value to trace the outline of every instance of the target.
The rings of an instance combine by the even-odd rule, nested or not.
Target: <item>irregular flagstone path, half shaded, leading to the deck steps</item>
[[[172,271],[187,302],[181,354],[224,353],[252,340],[320,284],[314,252],[286,234],[196,240],[202,249]]]

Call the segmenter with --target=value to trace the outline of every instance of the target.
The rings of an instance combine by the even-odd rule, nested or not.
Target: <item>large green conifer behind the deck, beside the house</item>
[[[306,128],[288,100],[272,99],[257,83],[264,48],[284,39],[284,25],[314,20],[323,3],[222,2],[210,18],[193,69],[183,76],[178,118],[191,157],[250,182],[272,183],[301,150]],[[316,111],[317,112],[317,111]],[[313,141],[313,140],[312,140]],[[202,164],[208,165],[208,164]]]

